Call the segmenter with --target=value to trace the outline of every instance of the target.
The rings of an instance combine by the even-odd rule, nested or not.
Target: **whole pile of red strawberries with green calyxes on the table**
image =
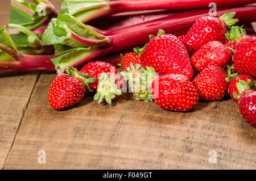
[[[234,15],[204,16],[179,37],[159,30],[144,47],[121,56],[119,74],[100,61],[80,71],[69,68],[49,87],[49,103],[62,110],[94,91],[94,100],[110,104],[128,88],[137,100],[187,112],[199,100],[221,100],[229,92],[245,121],[256,127],[256,37],[233,26],[238,21]]]

